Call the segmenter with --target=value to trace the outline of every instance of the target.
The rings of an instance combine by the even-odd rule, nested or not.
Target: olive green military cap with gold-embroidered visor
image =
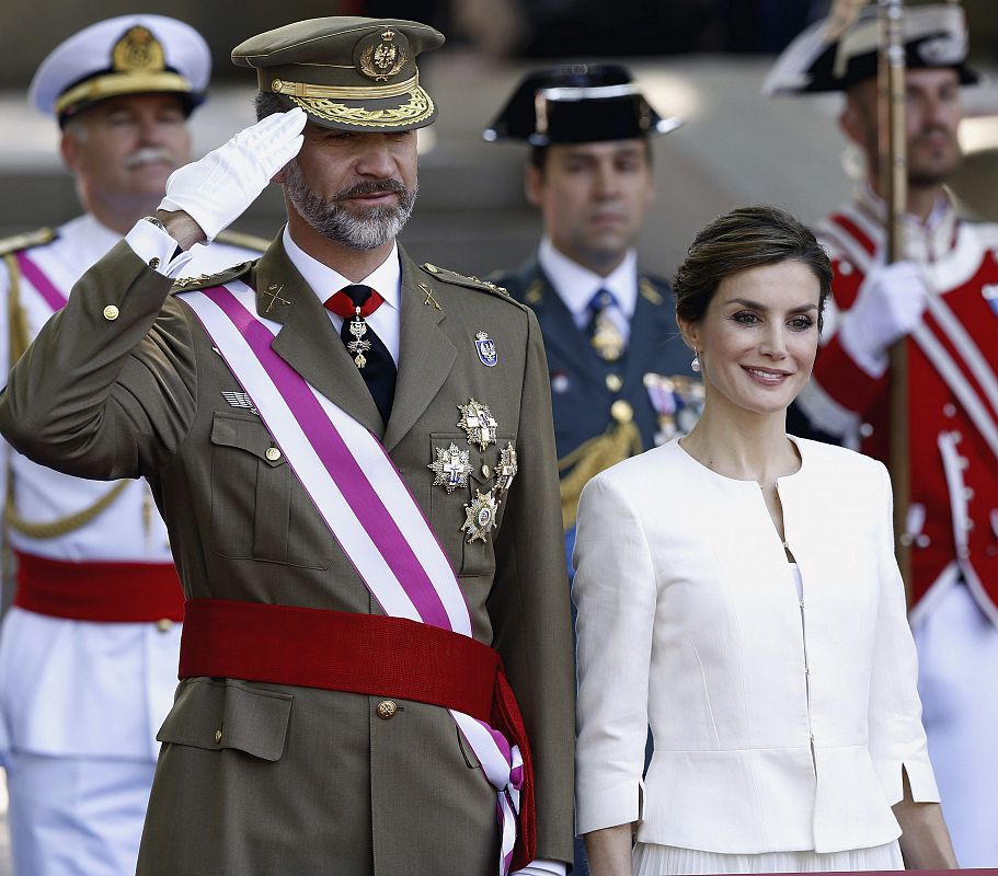
[[[317,125],[411,130],[437,116],[416,56],[443,43],[439,31],[415,21],[310,19],[246,39],[232,49],[232,62],[254,68],[261,91],[288,110],[300,106]]]

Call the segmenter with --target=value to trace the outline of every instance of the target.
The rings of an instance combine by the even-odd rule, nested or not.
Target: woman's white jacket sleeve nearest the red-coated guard
[[[903,797],[902,771],[916,802],[938,802],[918,698],[918,662],[908,626],[905,588],[894,556],[893,497],[887,470],[882,481],[883,523],[877,544],[880,587],[873,676],[870,684],[870,754],[887,803]]]

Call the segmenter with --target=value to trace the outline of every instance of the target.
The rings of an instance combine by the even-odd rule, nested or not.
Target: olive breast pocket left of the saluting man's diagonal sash
[[[263,423],[216,412],[211,445],[215,551],[234,560],[329,566],[331,535]]]

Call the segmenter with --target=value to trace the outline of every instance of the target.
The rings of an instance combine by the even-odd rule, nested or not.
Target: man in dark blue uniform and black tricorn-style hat
[[[623,67],[574,65],[528,73],[484,134],[531,147],[525,187],[544,235],[492,279],[543,333],[570,560],[586,482],[688,431],[702,405],[668,286],[640,273],[634,249],[654,198],[650,137],[679,124]]]

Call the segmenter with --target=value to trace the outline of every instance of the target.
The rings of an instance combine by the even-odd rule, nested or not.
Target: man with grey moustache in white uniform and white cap
[[[159,15],[87,27],[38,68],[31,102],[58,119],[87,211],[0,243],[4,373],[190,160],[186,117],[209,71],[200,35]],[[259,252],[216,243],[196,256],[197,268]],[[134,873],[183,616],[167,529],[142,481],[71,477],[9,448],[0,480],[16,566],[4,568],[15,593],[0,637],[0,762],[15,872]]]

